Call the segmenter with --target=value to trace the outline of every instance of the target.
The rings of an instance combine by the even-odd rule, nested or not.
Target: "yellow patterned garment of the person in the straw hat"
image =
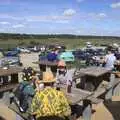
[[[71,109],[63,92],[54,88],[45,88],[37,92],[32,100],[31,112],[36,118],[45,116],[69,116]]]

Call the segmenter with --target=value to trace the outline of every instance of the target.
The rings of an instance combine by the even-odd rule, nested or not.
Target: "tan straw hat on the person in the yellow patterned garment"
[[[53,83],[56,82],[56,79],[52,72],[44,72],[43,73],[43,80],[40,81],[40,83]]]

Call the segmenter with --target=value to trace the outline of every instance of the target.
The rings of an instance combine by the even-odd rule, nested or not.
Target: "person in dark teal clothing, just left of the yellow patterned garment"
[[[25,113],[30,107],[31,100],[35,95],[32,79],[30,81],[23,79],[23,81],[19,83],[18,87],[13,91],[13,93],[14,98],[12,98],[12,100],[17,103],[20,112]],[[11,101],[11,103],[13,101]]]

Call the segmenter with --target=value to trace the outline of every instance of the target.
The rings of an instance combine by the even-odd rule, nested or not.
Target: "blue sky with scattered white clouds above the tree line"
[[[0,32],[120,36],[120,0],[0,0]]]

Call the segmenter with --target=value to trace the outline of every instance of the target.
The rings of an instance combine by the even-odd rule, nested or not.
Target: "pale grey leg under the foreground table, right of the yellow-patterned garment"
[[[90,100],[84,100],[83,101],[83,120],[91,120],[91,115],[92,115],[92,105]]]

